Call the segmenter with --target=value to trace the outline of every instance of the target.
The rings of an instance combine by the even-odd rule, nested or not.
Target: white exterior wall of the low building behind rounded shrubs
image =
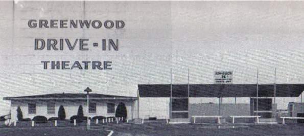
[[[123,102],[127,108],[127,118],[132,119],[132,101],[105,101],[105,100],[91,100],[90,103],[96,103],[96,114],[89,114],[89,117],[94,116],[115,116],[115,114],[107,114],[107,103],[115,103],[115,109],[120,102]],[[28,114],[28,103],[36,103],[36,114]],[[55,103],[55,114],[47,113],[47,104]],[[79,105],[83,107],[83,114],[87,116],[87,105],[86,100],[12,100],[11,102],[11,118],[12,120],[17,120],[17,106],[20,106],[23,118],[34,118],[35,116],[45,116],[46,118],[58,117],[58,110],[60,105],[64,107],[66,119],[71,118],[74,115],[77,115]]]

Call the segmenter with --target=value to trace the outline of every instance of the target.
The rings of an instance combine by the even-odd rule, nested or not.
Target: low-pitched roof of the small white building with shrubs
[[[22,97],[4,97],[4,100],[86,100],[86,94],[47,94],[35,96],[22,96]],[[103,94],[89,94],[90,100],[136,100],[136,97],[127,96],[113,96]]]

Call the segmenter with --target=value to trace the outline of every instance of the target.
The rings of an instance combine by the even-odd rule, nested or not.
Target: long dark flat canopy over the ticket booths
[[[138,84],[140,97],[170,97],[170,84]],[[256,84],[190,84],[190,97],[256,97]],[[276,97],[298,97],[304,84],[276,84]],[[172,84],[172,97],[188,97],[188,84]],[[274,84],[259,84],[259,97],[274,97]]]

